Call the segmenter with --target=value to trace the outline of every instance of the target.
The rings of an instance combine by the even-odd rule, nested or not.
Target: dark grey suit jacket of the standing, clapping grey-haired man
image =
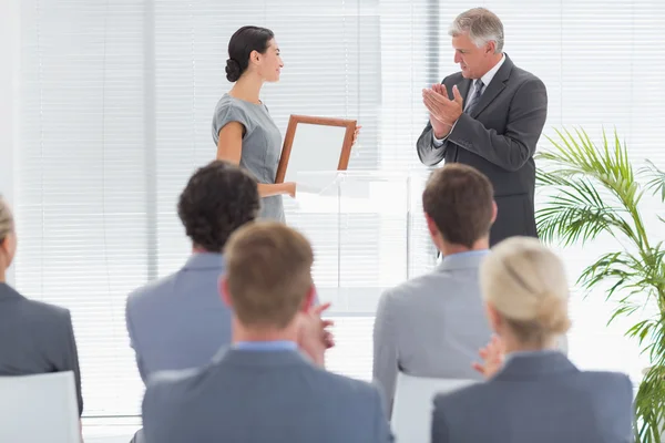
[[[450,99],[457,85],[466,100],[471,80],[456,73],[443,79]],[[471,114],[463,113],[441,147],[432,128],[418,140],[418,156],[427,166],[463,163],[487,175],[494,186],[499,213],[492,226],[494,245],[512,236],[538,237],[534,217],[535,163],[533,154],[548,116],[548,92],[535,75],[505,61]]]

